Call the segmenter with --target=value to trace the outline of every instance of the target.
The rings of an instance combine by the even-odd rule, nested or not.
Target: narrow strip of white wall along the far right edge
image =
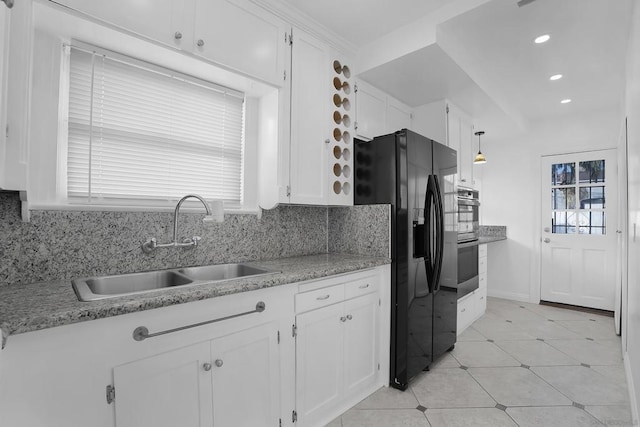
[[[629,149],[629,275],[626,328],[623,330],[623,349],[626,343],[625,363],[630,378],[632,412],[638,423],[640,407],[640,238],[634,239],[634,227],[640,224],[640,5],[634,5],[632,28],[627,55],[626,116]],[[634,241],[635,240],[635,241]],[[636,425],[636,424],[634,424]]]

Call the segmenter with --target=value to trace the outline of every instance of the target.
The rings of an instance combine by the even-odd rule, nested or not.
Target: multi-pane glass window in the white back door
[[[606,234],[605,161],[551,166],[551,207],[555,234]]]

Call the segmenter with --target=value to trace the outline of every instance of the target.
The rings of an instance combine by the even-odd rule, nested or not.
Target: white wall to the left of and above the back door
[[[485,129],[487,163],[474,166],[482,181],[480,223],[506,225],[508,237],[488,247],[495,260],[489,263],[489,295],[539,301],[541,156],[615,148],[621,121],[615,110],[533,123],[525,132],[500,139]]]

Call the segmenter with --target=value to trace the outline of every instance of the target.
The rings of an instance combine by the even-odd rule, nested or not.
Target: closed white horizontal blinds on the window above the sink
[[[241,207],[243,107],[230,89],[70,47],[69,200],[153,204],[196,193]]]

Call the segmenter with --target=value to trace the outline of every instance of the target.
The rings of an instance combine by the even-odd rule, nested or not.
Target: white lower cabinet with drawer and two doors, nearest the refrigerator
[[[378,279],[298,294],[296,310],[298,426],[325,425],[381,385]]]

